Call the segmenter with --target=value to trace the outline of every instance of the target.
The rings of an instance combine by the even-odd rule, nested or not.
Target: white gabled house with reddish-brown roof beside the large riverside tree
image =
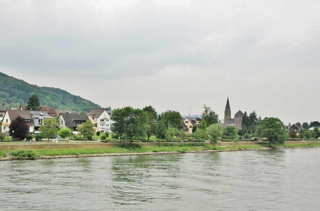
[[[92,110],[88,116],[91,116],[94,122],[97,122],[97,131],[111,132],[110,130],[110,116],[106,110]]]

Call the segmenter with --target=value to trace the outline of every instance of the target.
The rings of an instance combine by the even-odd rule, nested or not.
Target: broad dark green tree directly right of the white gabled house
[[[117,108],[113,110],[111,120],[114,123],[111,125],[111,130],[119,135],[124,134],[124,137],[132,143],[133,136],[143,138],[149,129],[148,114],[139,108],[130,106]]]

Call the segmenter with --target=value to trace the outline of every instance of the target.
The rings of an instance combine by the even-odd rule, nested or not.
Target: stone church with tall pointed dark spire
[[[235,114],[234,118],[231,118],[231,108],[230,108],[229,97],[228,97],[226,109],[224,110],[224,119],[220,121],[220,125],[223,128],[226,128],[228,126],[236,126],[237,130],[240,130],[243,115],[244,113],[239,110]]]

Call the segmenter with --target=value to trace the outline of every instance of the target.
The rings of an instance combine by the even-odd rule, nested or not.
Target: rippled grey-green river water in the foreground
[[[320,210],[320,148],[0,162],[0,210]]]

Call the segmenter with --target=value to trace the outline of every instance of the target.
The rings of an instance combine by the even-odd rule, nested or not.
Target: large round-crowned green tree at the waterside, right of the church
[[[284,141],[289,139],[284,123],[275,117],[264,118],[257,127],[256,133],[259,137],[268,138],[269,147],[271,143],[283,144]]]

